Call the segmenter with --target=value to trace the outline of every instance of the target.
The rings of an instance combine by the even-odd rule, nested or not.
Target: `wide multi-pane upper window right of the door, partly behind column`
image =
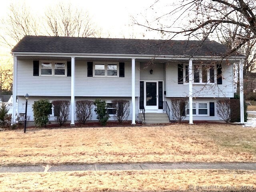
[[[194,65],[193,66],[193,78],[194,83],[214,83],[215,82],[215,67],[214,65]],[[188,65],[184,67],[185,82],[189,82]]]

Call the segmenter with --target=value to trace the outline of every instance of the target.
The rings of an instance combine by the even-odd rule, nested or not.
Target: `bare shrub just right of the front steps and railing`
[[[181,122],[186,117],[186,106],[188,104],[188,98],[172,98],[171,99],[171,109],[172,118]]]

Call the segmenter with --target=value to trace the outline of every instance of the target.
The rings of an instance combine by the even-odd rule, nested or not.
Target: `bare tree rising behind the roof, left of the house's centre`
[[[90,37],[97,34],[88,12],[65,5],[61,2],[46,11],[47,27],[50,28],[50,36],[66,37]]]

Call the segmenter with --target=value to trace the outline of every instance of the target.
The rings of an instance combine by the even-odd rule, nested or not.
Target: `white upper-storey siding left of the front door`
[[[139,66],[136,63],[136,66]],[[125,62],[125,76],[120,78],[87,77],[87,61],[75,63],[75,96],[132,96],[131,62]],[[139,95],[139,69],[135,71],[135,94]],[[71,77],[33,76],[33,60],[18,60],[17,95],[70,96]]]

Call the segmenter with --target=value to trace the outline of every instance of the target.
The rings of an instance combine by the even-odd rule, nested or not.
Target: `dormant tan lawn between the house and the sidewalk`
[[[0,132],[0,166],[256,162],[256,129],[228,124]]]

